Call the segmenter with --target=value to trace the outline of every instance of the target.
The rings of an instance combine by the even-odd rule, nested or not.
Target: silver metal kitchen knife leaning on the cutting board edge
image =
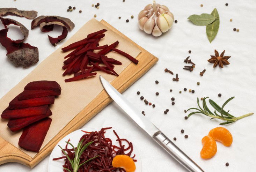
[[[144,131],[161,145],[174,159],[190,172],[203,170],[190,159],[180,148],[168,139],[151,121],[142,115],[133,105],[112,85],[100,76],[101,83],[109,96],[129,115]]]

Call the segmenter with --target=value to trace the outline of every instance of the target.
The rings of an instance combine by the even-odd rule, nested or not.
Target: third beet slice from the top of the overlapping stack
[[[20,94],[9,103],[9,109],[22,109],[25,107],[35,107],[54,103],[54,96],[31,98],[27,100],[19,100],[19,96]]]

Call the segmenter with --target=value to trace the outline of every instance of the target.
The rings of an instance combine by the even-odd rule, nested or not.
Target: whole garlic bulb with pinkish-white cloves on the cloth
[[[173,26],[174,16],[168,7],[153,0],[153,5],[148,4],[138,14],[138,21],[141,30],[153,36],[161,36]]]

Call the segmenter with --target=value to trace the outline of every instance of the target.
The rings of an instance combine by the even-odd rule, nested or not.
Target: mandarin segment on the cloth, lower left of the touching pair
[[[204,136],[202,139],[203,148],[200,152],[200,156],[203,159],[212,158],[217,152],[217,144],[215,140],[210,136]]]

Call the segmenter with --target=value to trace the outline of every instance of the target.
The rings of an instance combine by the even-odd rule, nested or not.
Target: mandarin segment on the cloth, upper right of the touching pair
[[[231,133],[224,127],[213,128],[208,135],[214,140],[220,141],[224,146],[230,146],[233,142]]]

